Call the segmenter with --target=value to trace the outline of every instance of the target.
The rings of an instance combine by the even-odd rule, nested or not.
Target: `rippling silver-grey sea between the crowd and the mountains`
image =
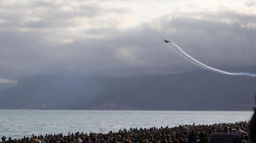
[[[40,134],[213,124],[249,120],[249,111],[0,110],[0,136],[20,139]]]

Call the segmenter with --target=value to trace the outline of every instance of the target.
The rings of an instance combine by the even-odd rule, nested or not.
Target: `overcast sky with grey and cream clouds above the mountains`
[[[256,65],[256,1],[1,0],[0,83]],[[242,72],[242,71],[241,71]]]

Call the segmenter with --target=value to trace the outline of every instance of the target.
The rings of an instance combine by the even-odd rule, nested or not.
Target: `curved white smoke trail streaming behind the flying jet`
[[[188,56],[190,59],[192,59],[194,62],[200,64],[200,67],[203,66],[204,68],[208,69],[208,70],[211,70],[211,71],[214,71],[214,72],[218,72],[218,73],[221,73],[221,74],[227,74],[227,75],[233,75],[233,76],[250,76],[250,77],[256,77],[256,74],[254,73],[230,73],[230,72],[226,72],[226,71],[223,71],[223,70],[219,70],[219,69],[216,69],[216,68],[212,68],[210,66],[207,66],[199,61],[197,61],[196,59],[194,59],[193,57],[191,57],[189,54],[185,53],[179,46],[177,46],[176,44],[174,44],[172,42],[173,45],[175,45],[183,54],[185,54],[186,56]],[[189,60],[190,61],[190,60]],[[194,63],[192,62],[192,63]]]

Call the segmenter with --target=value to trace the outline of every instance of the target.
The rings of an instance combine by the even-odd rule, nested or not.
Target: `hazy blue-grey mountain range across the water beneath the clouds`
[[[249,70],[256,73],[256,67]],[[251,110],[255,94],[256,78],[206,70],[132,78],[36,76],[0,91],[0,108]]]

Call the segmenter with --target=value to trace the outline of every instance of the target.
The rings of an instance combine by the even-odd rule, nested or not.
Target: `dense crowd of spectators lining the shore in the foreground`
[[[8,139],[2,137],[2,143],[210,143],[212,134],[229,134],[237,137],[239,143],[248,143],[249,122],[219,123],[213,125],[180,125],[169,128],[123,129],[118,132],[46,134]]]

